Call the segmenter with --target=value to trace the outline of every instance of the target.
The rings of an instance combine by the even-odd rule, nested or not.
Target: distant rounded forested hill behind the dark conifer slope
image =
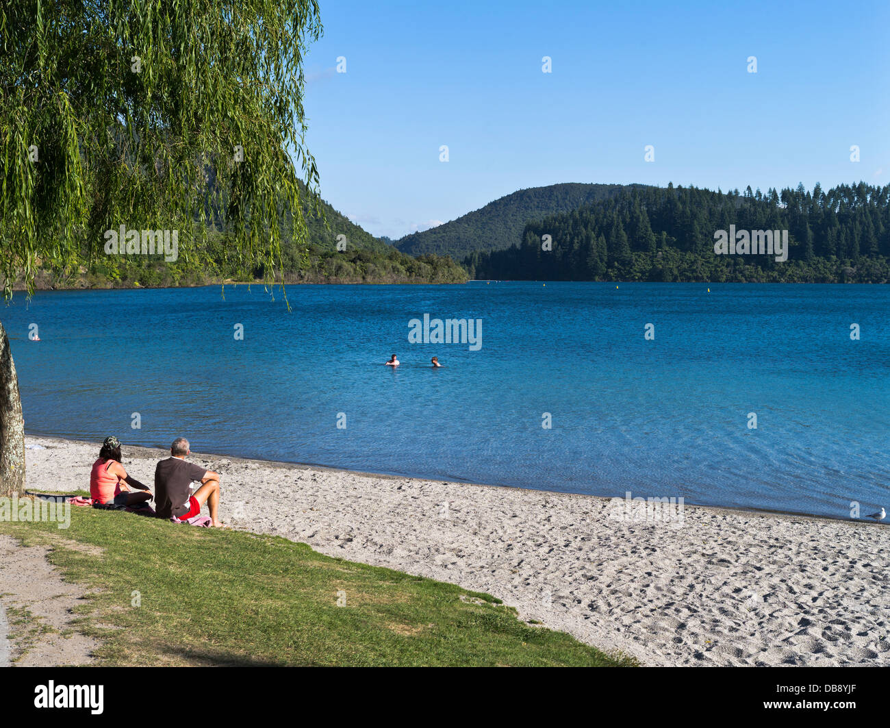
[[[496,199],[457,220],[406,235],[396,241],[395,247],[411,255],[434,253],[450,255],[455,260],[474,251],[504,250],[521,239],[526,222],[570,212],[596,200],[610,198],[622,190],[641,186],[567,182],[531,187]]]

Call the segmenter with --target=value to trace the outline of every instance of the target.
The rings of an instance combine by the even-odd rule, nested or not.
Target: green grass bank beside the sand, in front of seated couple
[[[52,546],[65,578],[88,587],[77,629],[101,641],[100,665],[634,664],[490,595],[285,538],[71,510],[68,530],[0,522],[0,533]]]

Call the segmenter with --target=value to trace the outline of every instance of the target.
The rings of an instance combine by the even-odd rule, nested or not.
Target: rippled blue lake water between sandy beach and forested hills
[[[183,434],[198,452],[837,517],[890,506],[890,287],[287,295],[290,312],[262,286],[16,295],[0,320],[27,432],[165,448]],[[409,344],[424,314],[481,320],[481,348]]]

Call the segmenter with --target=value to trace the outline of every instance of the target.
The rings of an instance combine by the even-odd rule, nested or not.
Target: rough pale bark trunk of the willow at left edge
[[[0,496],[25,490],[25,420],[21,416],[19,378],[0,323]]]

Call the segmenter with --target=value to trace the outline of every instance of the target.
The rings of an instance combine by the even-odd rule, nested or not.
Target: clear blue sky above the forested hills
[[[321,0],[321,18],[307,143],[322,196],[375,235],[555,182],[890,182],[886,2]]]

